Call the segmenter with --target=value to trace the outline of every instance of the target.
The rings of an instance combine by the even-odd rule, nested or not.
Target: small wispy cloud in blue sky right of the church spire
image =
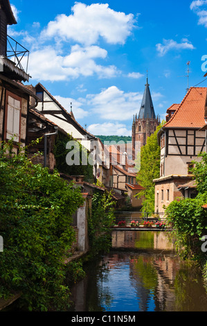
[[[159,43],[156,44],[156,50],[159,52],[160,56],[165,55],[170,50],[193,50],[195,47],[190,43],[190,41],[183,39],[181,40],[181,43],[177,43],[174,40],[163,40],[163,44]]]

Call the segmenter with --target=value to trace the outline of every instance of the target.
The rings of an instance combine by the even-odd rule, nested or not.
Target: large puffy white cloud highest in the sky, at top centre
[[[80,44],[91,45],[102,37],[109,44],[124,44],[134,28],[134,15],[125,15],[109,8],[107,3],[75,3],[69,16],[58,15],[42,31],[43,40],[59,37]]]

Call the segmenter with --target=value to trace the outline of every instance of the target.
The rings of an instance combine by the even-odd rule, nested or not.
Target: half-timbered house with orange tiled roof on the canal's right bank
[[[154,180],[155,212],[164,212],[163,205],[183,196],[183,190],[191,185],[192,160],[199,161],[197,155],[206,151],[206,132],[201,130],[205,125],[206,94],[207,87],[190,87],[181,104],[168,109],[171,115],[158,133],[161,165],[160,178]],[[172,114],[173,108],[176,110]],[[195,187],[185,194],[195,196]]]

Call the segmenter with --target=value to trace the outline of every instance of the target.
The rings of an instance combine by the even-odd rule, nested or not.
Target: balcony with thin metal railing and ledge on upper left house
[[[28,81],[29,51],[7,35],[6,56],[0,57],[0,71],[12,80]]]

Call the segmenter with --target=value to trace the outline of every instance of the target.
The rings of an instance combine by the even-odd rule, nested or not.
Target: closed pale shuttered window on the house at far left
[[[20,141],[21,98],[7,92],[6,94],[6,132],[5,138]]]

